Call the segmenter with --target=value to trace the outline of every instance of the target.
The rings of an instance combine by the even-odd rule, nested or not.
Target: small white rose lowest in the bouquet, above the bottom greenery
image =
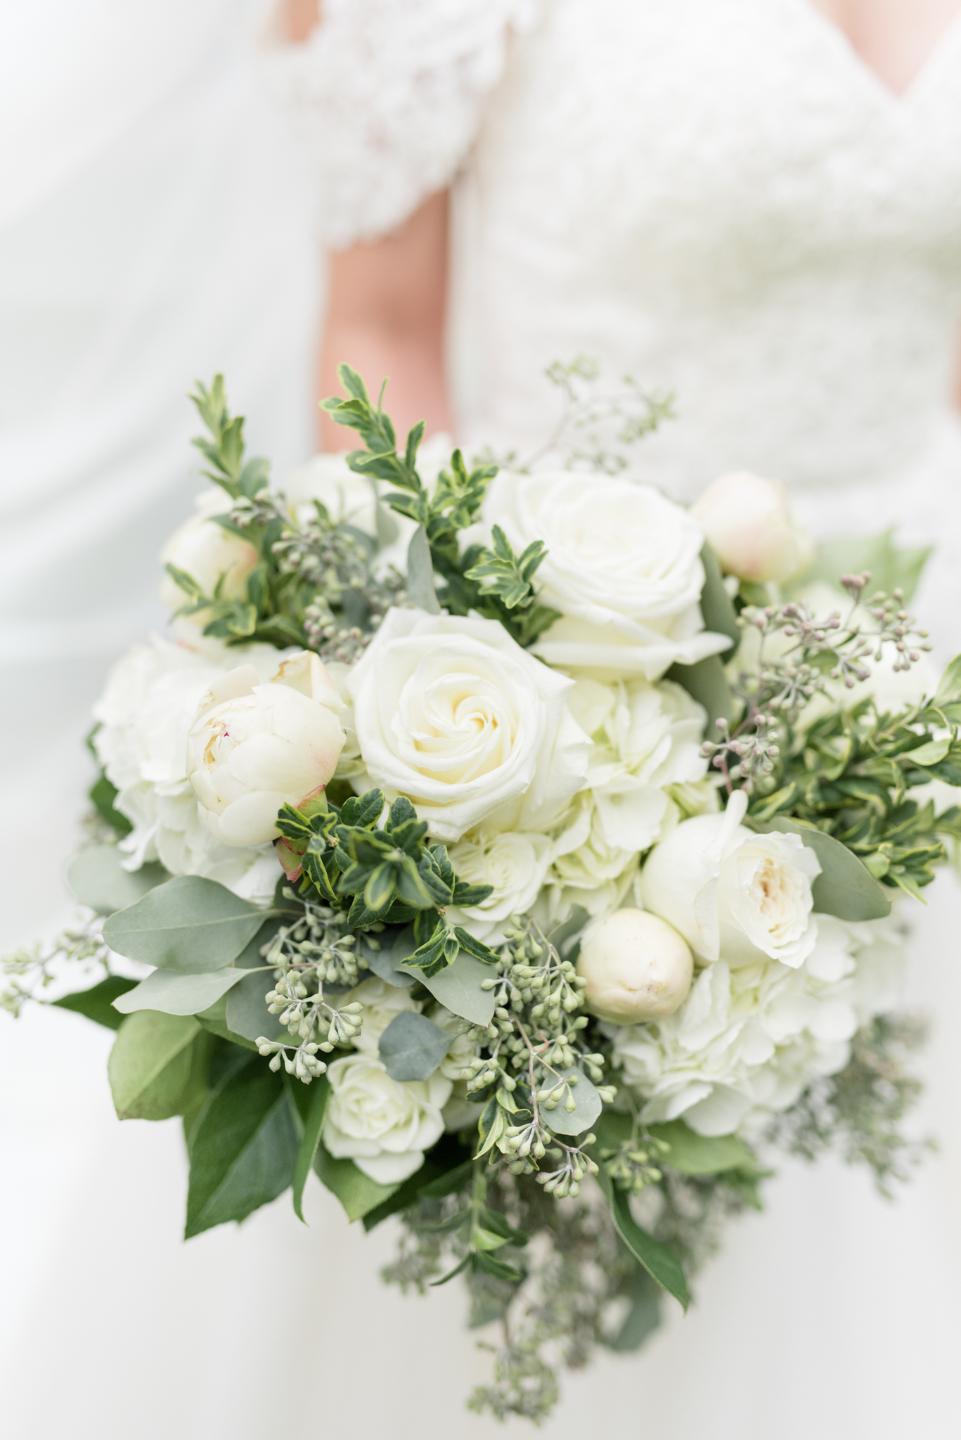
[[[444,1133],[442,1107],[452,1083],[437,1071],[429,1080],[392,1080],[383,1061],[353,1054],[327,1067],[330,1104],[324,1146],[352,1159],[379,1185],[395,1185],[424,1164],[424,1152]]]

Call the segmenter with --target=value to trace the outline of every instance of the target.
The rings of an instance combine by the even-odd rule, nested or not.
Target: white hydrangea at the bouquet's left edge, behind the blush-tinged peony
[[[173,876],[206,876],[265,903],[281,868],[272,845],[219,844],[202,822],[187,780],[187,730],[212,681],[238,664],[268,680],[282,658],[272,645],[228,648],[154,635],[114,665],[94,707],[97,755],[117,786],[117,809],[134,827],[121,841],[127,870],[158,860]]]

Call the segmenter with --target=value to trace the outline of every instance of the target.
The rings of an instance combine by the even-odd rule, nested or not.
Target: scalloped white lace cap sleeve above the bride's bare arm
[[[532,0],[323,0],[305,45],[267,56],[330,249],[399,225],[454,177]]]

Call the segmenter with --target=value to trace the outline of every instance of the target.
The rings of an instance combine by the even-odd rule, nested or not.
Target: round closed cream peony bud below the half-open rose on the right
[[[581,943],[578,975],[588,982],[585,1004],[614,1025],[673,1015],[693,973],[684,937],[647,910],[615,910],[591,924]]]

